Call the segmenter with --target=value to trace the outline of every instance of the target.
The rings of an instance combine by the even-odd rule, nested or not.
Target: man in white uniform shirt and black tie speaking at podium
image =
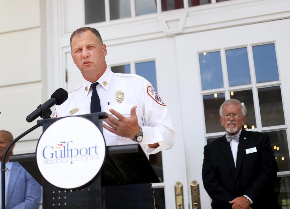
[[[73,62],[83,75],[83,83],[69,92],[67,101],[57,107],[53,117],[89,114],[94,112],[91,109],[97,109],[95,111],[109,113],[103,123],[106,145],[139,143],[146,154],[170,149],[175,141],[171,118],[151,83],[135,74],[112,73],[105,60],[106,45],[95,28],[74,31],[70,46]],[[100,107],[93,103],[94,91],[99,97]],[[139,191],[133,189],[126,194],[125,190],[132,188],[123,186],[119,198],[114,198],[114,201],[108,202],[106,195],[106,208],[154,208],[151,194],[142,198],[142,203],[132,197]],[[152,193],[148,186],[145,190]]]

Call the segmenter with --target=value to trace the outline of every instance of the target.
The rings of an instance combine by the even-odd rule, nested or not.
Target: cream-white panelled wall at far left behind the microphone
[[[39,0],[0,0],[0,130],[14,137],[36,124],[26,116],[42,102]],[[14,154],[34,152],[41,128],[21,139]]]

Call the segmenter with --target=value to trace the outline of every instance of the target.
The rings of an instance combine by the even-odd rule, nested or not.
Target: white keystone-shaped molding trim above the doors
[[[177,34],[183,31],[187,12],[157,17],[165,35]]]

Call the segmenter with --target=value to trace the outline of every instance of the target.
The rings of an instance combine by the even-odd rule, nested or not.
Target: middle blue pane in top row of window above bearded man
[[[226,50],[226,67],[230,87],[251,83],[247,47]]]

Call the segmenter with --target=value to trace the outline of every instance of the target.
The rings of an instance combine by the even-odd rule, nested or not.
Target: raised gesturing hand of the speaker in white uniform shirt
[[[108,118],[103,119],[103,121],[105,121],[109,125],[108,126],[106,124],[103,124],[103,127],[118,136],[135,140],[135,136],[137,136],[140,131],[136,108],[137,106],[133,106],[131,108],[129,117],[123,116],[121,113],[117,112],[114,109],[109,109],[110,113],[116,116],[116,118],[112,115],[109,115]],[[151,148],[157,148],[159,144],[148,144],[148,146]]]

